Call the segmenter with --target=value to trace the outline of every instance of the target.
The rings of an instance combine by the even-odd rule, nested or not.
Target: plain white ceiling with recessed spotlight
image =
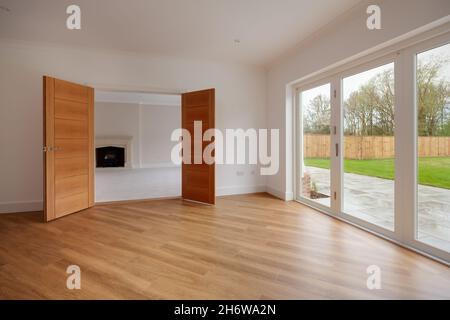
[[[0,38],[263,65],[358,2],[0,0]],[[69,4],[81,30],[66,29]]]

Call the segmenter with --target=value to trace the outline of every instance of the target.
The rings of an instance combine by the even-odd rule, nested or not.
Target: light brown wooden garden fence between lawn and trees
[[[394,137],[346,136],[344,138],[346,159],[388,159],[395,157]],[[449,157],[450,137],[419,137],[419,157]],[[305,158],[328,158],[329,135],[304,135]]]

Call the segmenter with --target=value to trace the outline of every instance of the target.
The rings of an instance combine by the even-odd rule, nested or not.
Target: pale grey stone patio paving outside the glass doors
[[[330,195],[330,171],[306,167],[317,191]],[[450,252],[450,190],[419,185],[418,240]],[[330,205],[330,198],[314,200]],[[344,174],[344,208],[352,216],[394,229],[394,181]]]

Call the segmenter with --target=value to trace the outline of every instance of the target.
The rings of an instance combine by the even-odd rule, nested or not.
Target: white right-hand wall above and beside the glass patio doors
[[[268,68],[267,122],[269,128],[280,128],[281,136],[280,171],[267,178],[270,193],[293,197],[292,110],[286,99],[290,82],[450,14],[448,0],[379,0],[382,30],[370,31],[366,28],[366,8],[373,3],[363,1]]]

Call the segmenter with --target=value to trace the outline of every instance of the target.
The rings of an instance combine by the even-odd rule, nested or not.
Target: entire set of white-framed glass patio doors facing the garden
[[[296,88],[296,199],[450,263],[450,32]]]

